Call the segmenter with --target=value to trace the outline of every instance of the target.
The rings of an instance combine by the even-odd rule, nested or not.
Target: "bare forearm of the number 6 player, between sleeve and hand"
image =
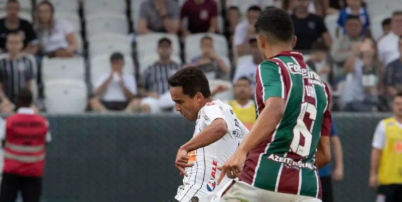
[[[279,98],[278,98],[279,99]],[[255,121],[249,134],[240,143],[238,149],[249,153],[272,133],[284,115],[283,106],[276,104],[266,105]]]

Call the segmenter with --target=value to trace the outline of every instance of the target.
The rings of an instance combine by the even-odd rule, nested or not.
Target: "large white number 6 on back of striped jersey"
[[[309,119],[307,123],[305,122],[306,112],[309,113]],[[290,149],[293,153],[298,154],[302,157],[308,156],[311,149],[311,141],[313,135],[311,134],[314,126],[314,121],[317,116],[317,109],[311,103],[302,103],[300,114],[297,118],[297,124],[293,128],[293,140],[290,144]],[[304,144],[300,144],[301,136],[304,137]]]

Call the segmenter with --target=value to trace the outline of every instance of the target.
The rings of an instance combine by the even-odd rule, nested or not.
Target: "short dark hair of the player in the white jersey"
[[[201,92],[205,98],[211,97],[210,84],[205,74],[198,67],[186,67],[174,73],[169,78],[171,87],[182,87],[183,93],[194,97]]]

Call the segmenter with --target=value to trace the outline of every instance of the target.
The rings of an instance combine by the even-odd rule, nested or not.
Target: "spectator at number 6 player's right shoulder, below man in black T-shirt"
[[[310,59],[306,62],[324,82],[328,82],[329,72],[331,72],[326,60],[327,52],[328,48],[323,41],[315,41],[312,45]]]

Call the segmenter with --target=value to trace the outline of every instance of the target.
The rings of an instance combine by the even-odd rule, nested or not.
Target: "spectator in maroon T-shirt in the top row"
[[[218,7],[215,0],[186,0],[181,7],[182,34],[216,33]],[[187,18],[187,26],[183,20]]]

